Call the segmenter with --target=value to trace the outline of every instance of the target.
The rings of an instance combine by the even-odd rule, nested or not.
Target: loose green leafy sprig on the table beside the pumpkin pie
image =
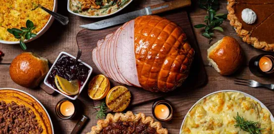
[[[226,19],[227,14],[216,13],[219,9],[219,0],[199,0],[199,6],[203,9],[207,10],[207,14],[205,16],[204,22],[206,24],[198,24],[195,25],[195,28],[205,28],[205,32],[202,34],[203,36],[209,38],[209,44],[212,41],[214,36],[214,30],[219,30],[223,32],[223,29],[220,27],[223,20]]]

